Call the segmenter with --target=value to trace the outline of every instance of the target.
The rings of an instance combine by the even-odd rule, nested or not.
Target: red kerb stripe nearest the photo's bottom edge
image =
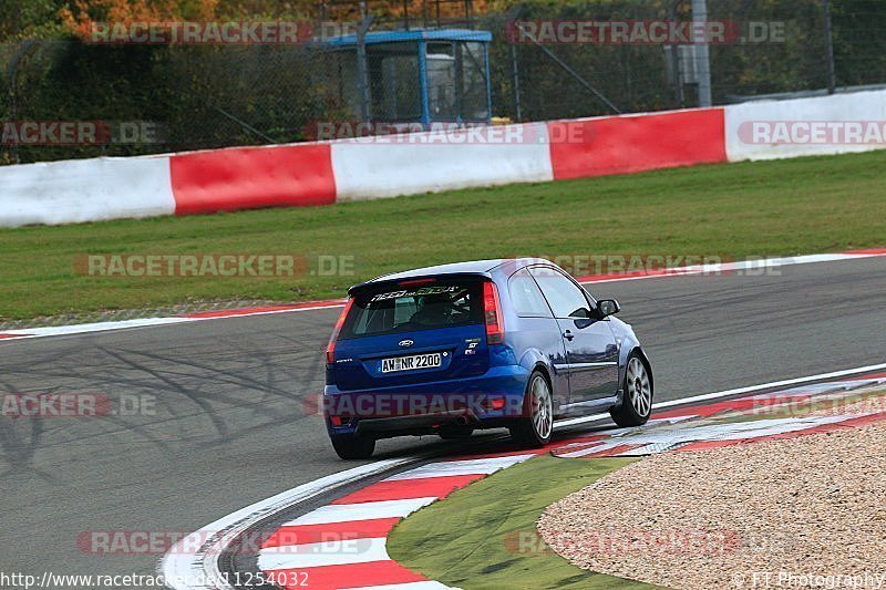
[[[414,573],[396,561],[368,561],[346,566],[318,566],[297,570],[266,570],[274,581],[286,589],[336,590],[363,586],[424,582],[427,578]]]

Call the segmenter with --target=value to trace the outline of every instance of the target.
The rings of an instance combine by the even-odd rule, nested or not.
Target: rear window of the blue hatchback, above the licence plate
[[[481,281],[391,286],[359,293],[340,340],[483,323]]]

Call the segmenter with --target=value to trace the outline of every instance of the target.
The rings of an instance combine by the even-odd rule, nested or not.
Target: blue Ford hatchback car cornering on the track
[[[554,420],[649,420],[652,372],[618,302],[543,259],[480,260],[351,287],[326,351],[323,413],[346,459],[402,435],[506,427],[526,446]]]

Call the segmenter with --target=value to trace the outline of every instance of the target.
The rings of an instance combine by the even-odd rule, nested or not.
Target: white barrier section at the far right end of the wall
[[[725,107],[727,157],[775,159],[886,147],[886,91]]]

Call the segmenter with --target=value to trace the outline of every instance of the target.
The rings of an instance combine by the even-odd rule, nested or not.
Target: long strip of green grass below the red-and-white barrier
[[[332,207],[0,230],[0,321],[341,297],[382,272],[511,255],[811,253],[886,246],[886,152],[699,166]],[[353,257],[347,276],[97,278],[86,253]]]

